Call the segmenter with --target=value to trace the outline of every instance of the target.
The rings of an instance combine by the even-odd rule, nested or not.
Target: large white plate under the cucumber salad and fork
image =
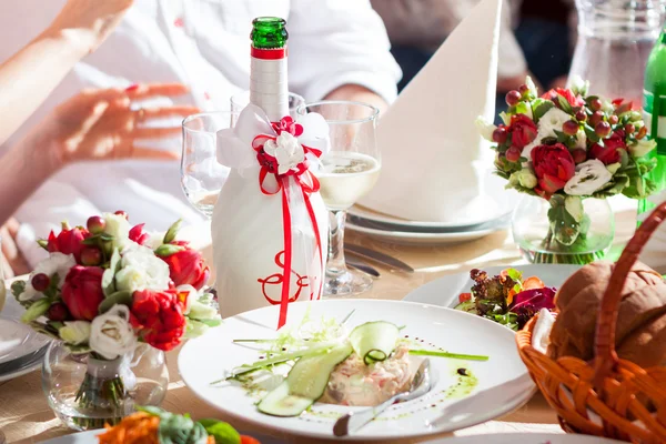
[[[289,305],[290,323],[300,323],[306,310],[312,320],[322,316],[342,321],[352,310],[353,327],[364,322],[384,320],[404,325],[403,333],[451,352],[486,354],[487,362],[461,362],[432,357],[436,383],[421,398],[390,407],[367,424],[352,440],[375,441],[451,432],[490,421],[519,407],[535,386],[518,357],[514,333],[500,324],[467,313],[432,305],[380,300],[326,300]],[[333,423],[341,415],[360,407],[316,403],[312,412],[299,417],[273,417],[256,410],[256,398],[238,385],[213,386],[232,369],[256,361],[260,353],[234,339],[275,336],[279,306],[269,306],[226,319],[201,337],[189,341],[179,355],[179,371],[185,384],[210,405],[239,417],[282,432],[313,437],[333,437]],[[456,369],[470,369],[478,385],[467,397],[452,398],[446,391],[457,382]],[[487,394],[487,396],[486,396]],[[481,400],[481,402],[480,402]],[[460,407],[460,408],[458,408]],[[456,413],[440,418],[443,410]],[[437,420],[440,418],[440,420]],[[437,420],[427,427],[426,421]]]

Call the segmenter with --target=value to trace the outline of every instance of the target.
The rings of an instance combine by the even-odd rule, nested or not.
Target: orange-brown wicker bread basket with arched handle
[[[521,359],[567,433],[666,443],[666,367],[643,369],[618,359],[615,352],[622,287],[640,250],[664,219],[666,202],[638,228],[617,261],[601,304],[593,361],[568,356],[553,360],[536,351],[532,346],[536,319],[516,336]]]

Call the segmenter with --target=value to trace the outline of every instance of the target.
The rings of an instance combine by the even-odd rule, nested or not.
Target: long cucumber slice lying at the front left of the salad
[[[273,416],[299,416],[322,397],[331,373],[350,354],[352,347],[345,343],[329,353],[301,357],[284,382],[261,400],[259,411]]]

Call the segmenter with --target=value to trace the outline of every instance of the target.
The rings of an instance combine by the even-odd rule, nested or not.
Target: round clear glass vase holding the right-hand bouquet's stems
[[[587,264],[613,243],[615,219],[605,199],[584,199],[574,218],[564,199],[524,195],[512,221],[514,242],[531,263]]]

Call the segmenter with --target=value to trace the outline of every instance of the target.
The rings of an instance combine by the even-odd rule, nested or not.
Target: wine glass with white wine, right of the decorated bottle
[[[321,165],[314,172],[331,220],[324,294],[363,293],[372,287],[372,279],[346,268],[344,222],[347,209],[365,195],[380,176],[382,163],[375,138],[380,110],[367,103],[330,100],[297,109],[299,115],[307,112],[324,117],[331,139],[331,149],[322,155]]]

